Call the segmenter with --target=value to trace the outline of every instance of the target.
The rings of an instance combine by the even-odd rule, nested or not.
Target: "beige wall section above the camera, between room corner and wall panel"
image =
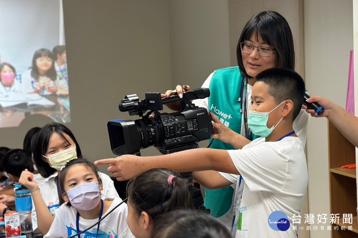
[[[227,0],[169,0],[172,86],[201,87],[230,65]]]

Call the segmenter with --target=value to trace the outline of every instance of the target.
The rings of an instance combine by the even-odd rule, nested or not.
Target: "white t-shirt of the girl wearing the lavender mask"
[[[111,211],[117,204],[122,202],[120,198],[115,198],[105,214]],[[102,217],[105,215],[103,214]],[[98,231],[98,238],[133,238],[128,225],[127,225],[128,207],[126,203],[122,203],[119,207],[113,210],[103,221],[100,223]],[[67,207],[62,204],[56,210],[56,216],[52,226],[44,238],[67,238],[77,233],[76,227],[77,209],[74,207]],[[90,227],[98,222],[96,219],[84,219],[79,217],[79,231]],[[96,237],[97,225],[81,234],[81,238]]]

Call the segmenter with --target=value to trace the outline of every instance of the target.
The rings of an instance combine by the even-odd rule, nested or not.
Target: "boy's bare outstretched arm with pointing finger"
[[[107,171],[118,181],[127,180],[153,168],[167,168],[176,172],[214,170],[238,174],[226,150],[197,148],[169,155],[140,157],[122,155],[117,158],[101,159],[96,165],[108,164]]]

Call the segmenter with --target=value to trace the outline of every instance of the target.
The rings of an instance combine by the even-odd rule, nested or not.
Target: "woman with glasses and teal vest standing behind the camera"
[[[251,108],[251,92],[256,75],[263,70],[275,67],[295,69],[294,43],[286,19],[274,11],[263,11],[252,16],[242,30],[236,54],[238,66],[219,69],[209,75],[202,87],[210,88],[211,96],[193,100],[193,103],[207,108],[218,116],[224,126],[240,133],[243,140],[254,140],[258,136],[253,135],[247,126],[247,116]],[[190,90],[189,86],[178,85],[175,90],[168,90],[162,97],[169,97],[173,92],[178,92],[179,97],[182,97],[183,92],[188,90]],[[171,103],[168,107],[179,111],[180,102]],[[304,110],[301,110],[293,124],[303,145],[306,143],[308,118]],[[211,148],[234,149],[233,146],[221,142],[219,134],[214,134],[212,138],[218,140],[214,140]],[[240,181],[240,189],[235,194],[238,198],[242,195],[245,183],[243,180]],[[233,192],[232,187],[205,189],[204,205],[211,209],[212,216],[220,217],[219,219],[228,227],[236,230],[240,228],[240,219],[236,219],[232,224],[232,209],[230,208]],[[240,199],[238,201],[234,204],[236,209],[240,207],[241,201]]]

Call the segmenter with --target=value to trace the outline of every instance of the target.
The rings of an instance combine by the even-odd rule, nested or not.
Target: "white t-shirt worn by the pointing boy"
[[[292,216],[300,213],[308,183],[301,140],[290,136],[265,142],[265,138],[258,138],[242,150],[228,150],[228,153],[245,179],[242,197],[237,197],[240,176],[219,172],[236,187],[233,236],[296,238],[291,226],[287,231],[275,231],[269,226],[268,218],[272,212],[282,211],[292,224]],[[239,212],[242,213],[241,230],[237,229]]]

